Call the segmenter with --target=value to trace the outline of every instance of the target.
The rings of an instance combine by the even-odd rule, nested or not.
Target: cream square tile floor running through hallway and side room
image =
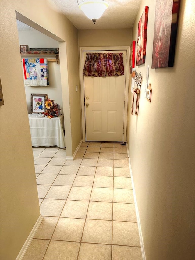
[[[33,148],[44,216],[23,260],[141,260],[126,146]]]

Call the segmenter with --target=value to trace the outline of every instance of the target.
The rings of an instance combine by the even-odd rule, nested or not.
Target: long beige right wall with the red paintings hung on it
[[[138,21],[149,6],[146,62],[139,116],[131,116],[129,96],[128,147],[148,260],[194,259],[195,254],[195,2],[181,1],[173,68],[151,69],[155,3],[143,0]],[[137,48],[137,46],[136,46]],[[145,99],[147,65],[152,99]]]

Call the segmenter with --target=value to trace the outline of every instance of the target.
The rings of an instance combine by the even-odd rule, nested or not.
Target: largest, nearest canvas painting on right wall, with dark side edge
[[[152,68],[173,67],[180,0],[157,0]]]

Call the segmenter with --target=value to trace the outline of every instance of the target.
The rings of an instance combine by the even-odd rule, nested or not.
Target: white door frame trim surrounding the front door
[[[84,96],[84,75],[83,75],[83,52],[95,51],[126,51],[126,75],[125,75],[125,105],[124,105],[124,123],[123,123],[123,142],[126,142],[127,136],[127,113],[128,113],[128,94],[129,94],[129,64],[130,64],[130,46],[107,46],[107,47],[79,47],[79,71],[80,71],[80,103],[81,103],[81,121],[82,121],[82,139],[86,142],[85,129],[85,96]],[[124,62],[125,63],[125,62]]]

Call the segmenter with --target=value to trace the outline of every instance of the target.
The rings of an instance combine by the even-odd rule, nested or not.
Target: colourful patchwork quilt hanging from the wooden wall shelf
[[[47,86],[47,59],[22,59],[24,84],[30,86]]]

